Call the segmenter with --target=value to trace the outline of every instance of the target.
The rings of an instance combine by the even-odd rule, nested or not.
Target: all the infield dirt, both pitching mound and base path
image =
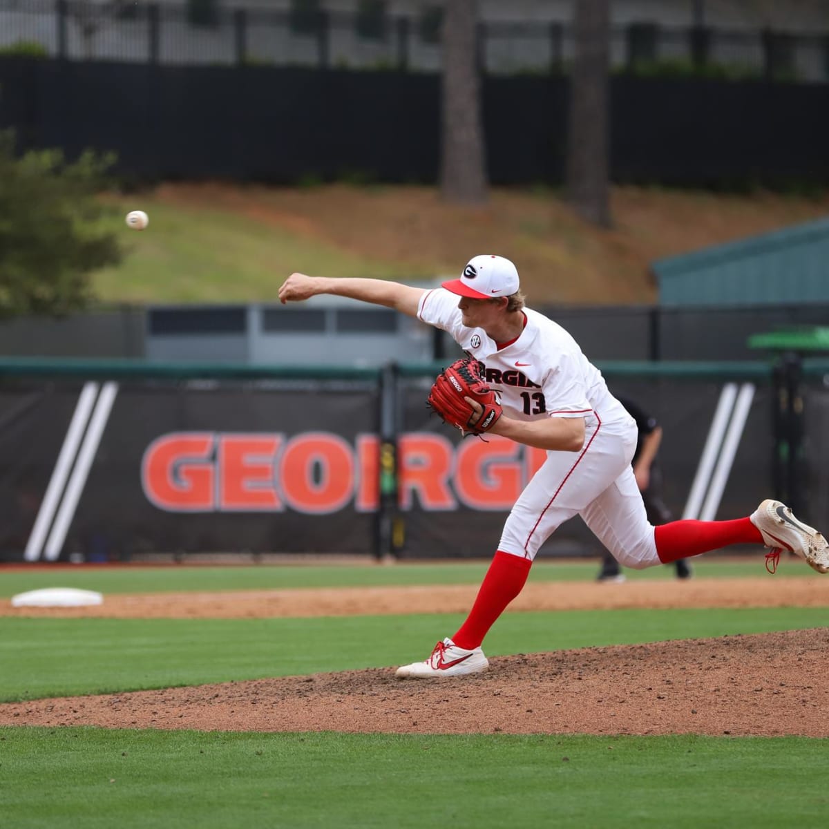
[[[474,594],[468,586],[158,594],[107,597],[91,608],[12,608],[3,601],[0,614],[258,618],[448,613],[463,612]],[[511,610],[790,604],[829,606],[829,579],[529,584]],[[436,632],[436,638],[443,635]],[[424,642],[424,651],[430,644]],[[827,657],[829,628],[817,628],[495,657],[486,674],[444,681],[401,681],[389,667],[11,703],[0,705],[0,725],[829,737]]]

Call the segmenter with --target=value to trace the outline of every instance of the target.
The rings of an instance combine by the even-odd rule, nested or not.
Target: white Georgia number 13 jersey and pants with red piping
[[[456,294],[435,288],[418,306],[419,319],[482,361],[508,416],[584,418],[583,447],[547,453],[512,507],[498,549],[532,560],[556,527],[578,513],[621,564],[661,564],[630,465],[635,421],[564,328],[530,308],[524,313],[521,335],[499,349],[482,328],[463,325]]]

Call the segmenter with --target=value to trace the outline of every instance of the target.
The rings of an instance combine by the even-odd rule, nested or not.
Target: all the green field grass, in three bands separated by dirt
[[[701,561],[696,573],[756,575],[753,564]],[[539,565],[537,579],[591,579],[595,570]],[[56,584],[104,593],[460,584],[476,582],[485,566],[0,570],[0,585],[7,596]],[[0,618],[0,698],[390,666],[422,657],[460,621],[457,614]],[[826,608],[794,607],[507,613],[487,638],[487,653],[826,622]],[[0,728],[0,803],[9,827],[823,827],[829,796],[815,777],[826,751],[827,740],[801,738],[12,727]]]

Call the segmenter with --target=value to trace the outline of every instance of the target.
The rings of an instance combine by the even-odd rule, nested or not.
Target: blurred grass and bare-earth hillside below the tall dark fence
[[[165,184],[105,196],[127,255],[94,275],[103,302],[273,301],[294,270],[433,279],[479,253],[515,261],[534,303],[651,303],[662,256],[829,214],[817,198],[613,190],[614,226],[596,229],[550,190],[495,189],[486,207],[448,206],[429,187],[285,188]],[[147,230],[128,230],[129,210]]]

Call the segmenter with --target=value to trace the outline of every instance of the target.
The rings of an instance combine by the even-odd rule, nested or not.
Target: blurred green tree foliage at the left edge
[[[120,261],[95,197],[113,162],[86,152],[67,163],[56,150],[16,158],[13,134],[0,133],[0,317],[84,308],[90,271]]]

